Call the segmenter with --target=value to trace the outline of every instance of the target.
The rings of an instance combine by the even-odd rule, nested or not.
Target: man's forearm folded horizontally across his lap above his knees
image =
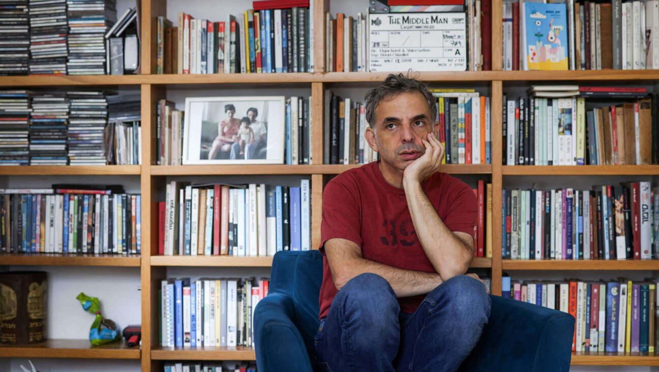
[[[389,282],[397,297],[416,296],[430,293],[436,286],[442,284],[442,278],[436,273],[404,270],[377,263],[364,258],[353,259],[350,268],[344,268],[344,275],[335,280],[337,289],[341,289],[350,279],[363,273],[380,275]]]

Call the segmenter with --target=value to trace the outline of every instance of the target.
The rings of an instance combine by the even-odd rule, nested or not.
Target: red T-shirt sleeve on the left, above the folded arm
[[[320,226],[321,253],[325,253],[325,242],[330,239],[345,239],[362,246],[361,203],[357,190],[349,185],[331,180],[323,190],[323,221]]]

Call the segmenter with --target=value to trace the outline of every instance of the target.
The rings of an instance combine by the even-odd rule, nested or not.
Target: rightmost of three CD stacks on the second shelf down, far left
[[[69,92],[69,163],[105,165],[103,130],[107,126],[107,101],[102,91]]]

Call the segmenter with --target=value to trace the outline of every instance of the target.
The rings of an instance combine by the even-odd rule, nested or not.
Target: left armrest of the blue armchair
[[[259,372],[312,372],[304,340],[293,323],[293,300],[271,293],[254,310],[254,346]]]

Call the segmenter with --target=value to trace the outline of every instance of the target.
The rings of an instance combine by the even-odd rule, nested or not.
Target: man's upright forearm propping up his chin
[[[473,252],[444,225],[420,182],[403,179],[416,236],[424,252],[443,280],[463,275]]]

